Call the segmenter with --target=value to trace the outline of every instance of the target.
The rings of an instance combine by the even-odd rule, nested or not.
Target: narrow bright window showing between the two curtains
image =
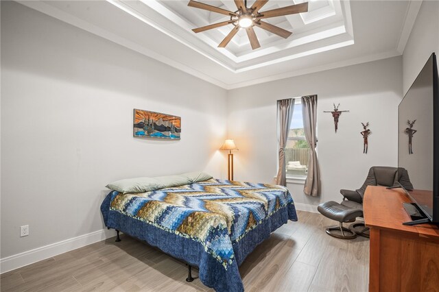
[[[285,165],[287,176],[307,175],[309,145],[303,130],[302,103],[295,99],[293,118],[289,125],[287,147],[285,147]]]

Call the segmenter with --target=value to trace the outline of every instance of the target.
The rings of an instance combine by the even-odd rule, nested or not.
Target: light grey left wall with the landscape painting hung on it
[[[113,180],[225,175],[226,90],[5,1],[1,85],[1,258],[102,230]],[[180,116],[181,140],[133,138],[133,108]]]

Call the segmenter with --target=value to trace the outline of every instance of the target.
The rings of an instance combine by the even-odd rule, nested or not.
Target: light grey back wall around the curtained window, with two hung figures
[[[397,106],[402,98],[401,57],[333,69],[228,92],[228,136],[235,138],[235,179],[272,182],[276,175],[276,100],[318,95],[318,157],[322,192],[308,197],[289,184],[295,202],[341,201],[340,188],[359,188],[369,167],[397,165]],[[340,103],[337,134],[323,110]],[[369,122],[363,154],[361,122]]]

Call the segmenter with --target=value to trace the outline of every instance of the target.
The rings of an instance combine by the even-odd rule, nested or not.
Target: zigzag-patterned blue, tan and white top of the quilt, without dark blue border
[[[237,267],[234,246],[276,212],[284,210],[287,219],[297,219],[287,188],[273,184],[211,179],[147,193],[109,195],[113,211],[109,215],[119,213],[196,241],[226,271]]]

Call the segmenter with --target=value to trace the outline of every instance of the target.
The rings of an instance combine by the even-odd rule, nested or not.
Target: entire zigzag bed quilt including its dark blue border
[[[110,191],[101,206],[105,225],[198,267],[215,291],[244,291],[239,265],[287,220],[297,221],[292,196],[273,184],[189,182]]]

